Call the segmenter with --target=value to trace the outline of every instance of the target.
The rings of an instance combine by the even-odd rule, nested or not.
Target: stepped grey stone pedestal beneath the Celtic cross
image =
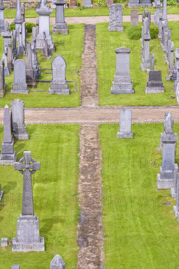
[[[39,218],[34,214],[18,218],[17,237],[13,238],[12,251],[45,251],[44,237],[40,237]]]

